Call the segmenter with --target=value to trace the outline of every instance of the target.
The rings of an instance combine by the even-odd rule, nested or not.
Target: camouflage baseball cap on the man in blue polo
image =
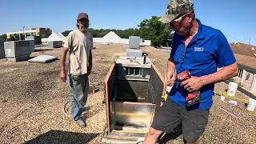
[[[170,0],[167,5],[166,15],[159,20],[161,22],[171,22],[178,15],[194,12],[194,3],[192,0]]]

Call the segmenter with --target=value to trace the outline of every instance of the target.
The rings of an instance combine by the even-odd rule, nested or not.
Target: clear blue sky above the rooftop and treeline
[[[2,0],[0,34],[47,27],[54,32],[76,29],[86,12],[90,28],[137,28],[143,19],[162,16],[169,0]],[[196,18],[222,30],[229,42],[256,45],[255,0],[194,0]]]

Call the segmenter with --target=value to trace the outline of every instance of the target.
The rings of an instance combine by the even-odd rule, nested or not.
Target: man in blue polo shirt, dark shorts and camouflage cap
[[[196,19],[194,4],[189,0],[170,1],[161,20],[169,22],[175,31],[166,74],[166,84],[173,87],[143,143],[155,143],[162,132],[173,132],[181,122],[184,142],[196,143],[208,122],[214,83],[237,75],[237,62],[222,32]],[[175,75],[184,70],[189,70],[192,77],[174,82]],[[197,90],[200,102],[186,106],[187,94]]]

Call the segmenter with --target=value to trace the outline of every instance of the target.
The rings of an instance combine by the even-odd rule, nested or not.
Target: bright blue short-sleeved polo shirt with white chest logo
[[[201,77],[213,74],[217,68],[229,66],[236,60],[230,50],[229,42],[220,30],[202,25],[197,19],[198,33],[185,46],[182,36],[174,34],[170,58],[174,60],[177,74],[189,70],[192,76]],[[213,103],[214,84],[202,86],[200,103],[195,105],[199,110],[209,110]],[[180,106],[186,106],[187,91],[175,82],[170,90],[169,98]]]

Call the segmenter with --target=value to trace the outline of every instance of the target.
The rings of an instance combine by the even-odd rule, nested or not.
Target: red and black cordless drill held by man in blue
[[[176,81],[184,82],[187,79],[191,78],[191,74],[188,70],[182,71],[178,74]],[[192,93],[188,93],[186,96],[186,106],[192,106],[198,104],[200,102],[200,91],[194,91]]]

